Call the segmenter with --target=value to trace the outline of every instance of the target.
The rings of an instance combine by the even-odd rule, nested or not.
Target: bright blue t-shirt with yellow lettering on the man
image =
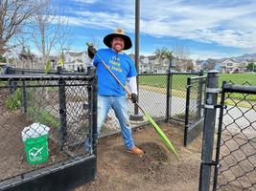
[[[136,68],[126,53],[115,53],[112,49],[100,49],[97,54],[125,86],[128,77],[136,76]],[[97,67],[98,94],[101,96],[125,96],[126,92],[116,79],[105,69],[98,55],[94,56],[93,65]]]

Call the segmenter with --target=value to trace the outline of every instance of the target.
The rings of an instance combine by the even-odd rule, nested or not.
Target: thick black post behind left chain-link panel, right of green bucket
[[[67,114],[66,114],[66,93],[65,93],[65,80],[58,79],[58,103],[60,115],[60,140],[61,149],[63,148],[67,138]]]

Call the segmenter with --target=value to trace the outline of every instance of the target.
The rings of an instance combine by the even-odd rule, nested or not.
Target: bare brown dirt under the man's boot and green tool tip
[[[165,148],[151,126],[133,133],[136,144],[146,152],[141,158],[126,151],[120,136],[101,138],[97,178],[75,191],[198,190],[200,138],[184,148],[180,125],[163,123],[160,126],[173,141],[179,161]]]

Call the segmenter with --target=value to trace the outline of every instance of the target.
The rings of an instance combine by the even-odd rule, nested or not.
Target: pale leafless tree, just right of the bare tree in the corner
[[[67,19],[58,15],[51,0],[34,0],[35,12],[31,17],[33,43],[41,57],[39,68],[43,68],[54,51],[61,53],[67,40]]]

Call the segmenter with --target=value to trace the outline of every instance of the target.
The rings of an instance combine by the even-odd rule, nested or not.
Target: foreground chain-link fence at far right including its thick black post
[[[208,73],[200,191],[256,190],[256,87],[230,83],[224,82],[219,89],[219,73]],[[219,93],[221,104],[217,101]],[[217,137],[216,117],[219,118]]]

